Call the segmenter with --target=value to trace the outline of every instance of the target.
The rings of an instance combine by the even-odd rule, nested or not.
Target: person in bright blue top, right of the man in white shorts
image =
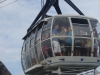
[[[67,36],[71,36],[72,35],[71,34],[71,28],[70,27],[68,27],[68,32],[66,33],[66,35]],[[70,37],[68,37],[66,39],[66,45],[68,46],[66,50],[67,50],[67,55],[68,56],[71,55],[71,44],[72,44],[72,39]]]

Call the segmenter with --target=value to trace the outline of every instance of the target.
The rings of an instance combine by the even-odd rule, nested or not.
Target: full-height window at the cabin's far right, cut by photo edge
[[[94,36],[94,52],[93,56],[100,56],[100,23],[97,20],[90,20],[92,32]]]

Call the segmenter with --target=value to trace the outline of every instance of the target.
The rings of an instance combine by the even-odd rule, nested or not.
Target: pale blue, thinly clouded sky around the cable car
[[[100,22],[100,0],[71,0],[85,16]],[[64,0],[63,14],[77,14]],[[0,0],[0,61],[12,75],[24,75],[21,67],[22,38],[41,10],[41,0]],[[48,14],[57,15],[52,7]],[[100,67],[97,69],[100,71]]]

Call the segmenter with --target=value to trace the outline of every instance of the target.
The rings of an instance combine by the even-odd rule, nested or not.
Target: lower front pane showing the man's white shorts
[[[71,37],[56,37],[52,39],[53,50],[56,56],[71,56]]]

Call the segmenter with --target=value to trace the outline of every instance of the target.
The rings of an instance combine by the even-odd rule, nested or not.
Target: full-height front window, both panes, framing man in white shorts
[[[67,17],[56,17],[52,27],[52,44],[56,56],[70,56],[72,45],[72,30]],[[68,38],[60,38],[60,37]],[[63,45],[63,46],[62,46]],[[68,51],[69,50],[69,51]]]

